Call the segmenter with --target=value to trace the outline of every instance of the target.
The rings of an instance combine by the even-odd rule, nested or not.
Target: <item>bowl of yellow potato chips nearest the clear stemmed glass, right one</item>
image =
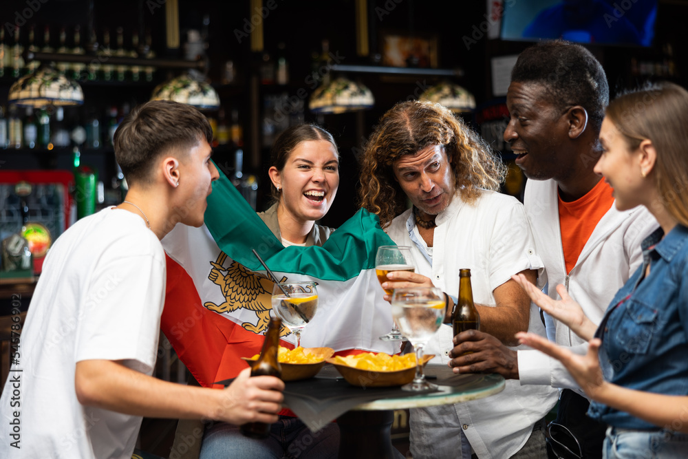
[[[422,365],[428,363],[433,354],[424,355]],[[344,376],[347,383],[359,387],[390,387],[413,381],[416,375],[416,354],[389,355],[384,352],[363,352],[362,354],[334,356],[325,359],[332,363]]]

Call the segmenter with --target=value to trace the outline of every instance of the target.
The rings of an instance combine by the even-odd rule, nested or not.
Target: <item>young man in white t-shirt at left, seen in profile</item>
[[[165,292],[160,239],[175,224],[203,223],[218,178],[212,138],[206,118],[179,103],[149,102],[122,121],[114,144],[127,197],[76,222],[45,259],[0,398],[0,457],[131,458],[142,416],[277,420],[277,378],[247,369],[215,390],[151,376]]]

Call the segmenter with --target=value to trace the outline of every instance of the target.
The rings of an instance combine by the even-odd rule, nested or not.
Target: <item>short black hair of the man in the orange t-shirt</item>
[[[585,47],[562,40],[531,46],[519,54],[511,81],[544,85],[550,102],[561,109],[581,105],[591,127],[600,130],[609,85],[602,65]]]

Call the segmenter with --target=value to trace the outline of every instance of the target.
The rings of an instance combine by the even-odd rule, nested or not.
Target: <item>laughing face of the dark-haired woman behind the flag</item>
[[[289,153],[281,171],[270,168],[280,205],[299,222],[320,220],[339,186],[337,151],[327,140],[305,140]]]

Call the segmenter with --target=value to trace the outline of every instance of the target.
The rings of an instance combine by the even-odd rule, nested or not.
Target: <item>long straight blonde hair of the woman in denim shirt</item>
[[[658,204],[688,226],[688,92],[674,83],[650,85],[612,100],[606,116],[632,151],[652,141]]]

